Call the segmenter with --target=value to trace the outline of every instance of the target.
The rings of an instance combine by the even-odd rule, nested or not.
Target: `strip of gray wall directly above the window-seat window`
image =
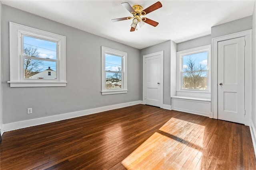
[[[193,49],[193,48],[196,48],[196,47],[202,47],[204,45],[210,45],[210,44],[212,44],[211,35],[206,35],[204,37],[199,37],[199,38],[196,38],[196,39],[192,39],[192,40],[189,40],[189,41],[178,43],[177,44],[177,51]]]

